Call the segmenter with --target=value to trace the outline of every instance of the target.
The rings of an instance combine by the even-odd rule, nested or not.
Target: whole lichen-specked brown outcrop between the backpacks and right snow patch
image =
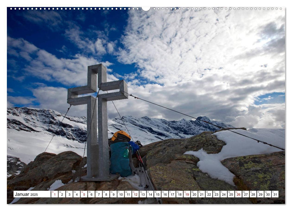
[[[207,153],[219,153],[226,143],[206,131],[186,139],[168,139],[143,146],[140,155],[146,161],[149,176],[157,190],[238,190],[224,181],[201,172],[199,159],[184,155],[186,151],[203,148]],[[163,198],[163,203],[251,203],[246,198]]]

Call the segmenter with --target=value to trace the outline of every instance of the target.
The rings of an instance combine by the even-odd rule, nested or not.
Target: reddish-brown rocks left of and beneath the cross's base
[[[14,199],[13,191],[28,190],[47,191],[57,180],[64,186],[56,191],[131,191],[137,190],[128,181],[115,179],[101,182],[72,182],[75,178],[86,175],[86,157],[83,159],[78,154],[67,151],[60,154],[41,153],[33,162],[30,162],[20,175],[8,179],[7,203]],[[128,203],[137,204],[145,198],[20,198],[15,204],[109,204]]]

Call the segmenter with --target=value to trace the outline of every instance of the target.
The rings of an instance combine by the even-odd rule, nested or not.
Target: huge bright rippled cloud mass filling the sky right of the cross
[[[284,127],[277,118],[283,108],[277,114],[269,110],[274,104],[254,106],[260,95],[285,92],[284,17],[284,11],[130,11],[118,55],[139,68],[124,76],[129,93],[234,126]],[[138,86],[143,79],[148,84]],[[183,118],[137,99],[117,105],[125,114]]]

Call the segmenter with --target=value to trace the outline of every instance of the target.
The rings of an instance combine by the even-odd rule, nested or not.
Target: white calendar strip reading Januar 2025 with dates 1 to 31
[[[14,191],[14,197],[49,198],[278,198],[279,191]]]

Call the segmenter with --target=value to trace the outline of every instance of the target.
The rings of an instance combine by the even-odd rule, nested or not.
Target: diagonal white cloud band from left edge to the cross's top
[[[39,49],[26,40],[19,38],[14,39],[8,37],[8,53],[13,49],[17,56],[27,59],[27,56],[32,59],[29,64],[21,71],[11,75],[15,80],[23,80],[24,77],[35,76],[47,81],[57,81],[64,85],[84,86],[87,84],[87,67],[102,63],[108,67],[112,65],[109,61],[98,61],[95,58],[77,54],[73,59],[57,58],[55,55]],[[18,52],[26,52],[26,54]],[[24,75],[21,75],[24,74]],[[108,81],[118,80],[111,74],[108,74]]]

